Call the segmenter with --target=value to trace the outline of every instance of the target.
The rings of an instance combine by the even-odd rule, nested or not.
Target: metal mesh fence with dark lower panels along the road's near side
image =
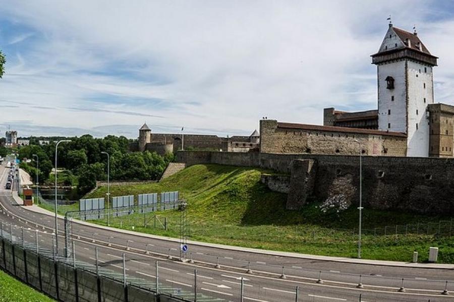
[[[55,234],[19,229],[3,221],[0,221],[0,240],[0,268],[56,300],[224,301],[175,287],[172,278],[162,273],[165,277],[161,280],[157,261],[152,276],[150,269],[142,272],[143,268],[135,264],[138,261],[124,253],[122,256],[107,250],[98,253],[98,247],[83,243],[76,248],[75,241],[72,257],[61,257],[62,251],[55,248]],[[90,250],[95,251],[92,257],[87,255]],[[140,273],[153,277],[154,281],[141,278]]]

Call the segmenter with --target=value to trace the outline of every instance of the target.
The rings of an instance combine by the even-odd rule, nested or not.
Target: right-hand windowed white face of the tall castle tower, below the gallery
[[[407,156],[429,156],[429,113],[433,104],[432,67],[408,61],[408,148]]]

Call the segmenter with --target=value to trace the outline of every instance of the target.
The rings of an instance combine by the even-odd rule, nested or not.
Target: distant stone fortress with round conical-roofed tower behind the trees
[[[254,130],[249,136],[219,137],[217,135],[152,133],[147,124],[139,129],[138,140],[130,144],[131,151],[150,151],[164,155],[178,150],[205,150],[222,152],[258,151],[260,135]]]

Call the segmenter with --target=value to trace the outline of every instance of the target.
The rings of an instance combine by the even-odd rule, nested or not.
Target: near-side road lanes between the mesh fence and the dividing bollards
[[[14,223],[18,222],[17,219],[9,219]],[[4,220],[4,219],[2,219]],[[18,224],[19,225],[19,224]],[[25,225],[25,224],[24,224]],[[14,231],[16,236],[21,236],[19,230]],[[48,240],[43,240],[47,243],[47,248],[50,249],[48,243],[50,240],[50,234],[43,234],[47,236]],[[30,237],[31,234],[28,235]],[[27,234],[25,235],[27,238]],[[30,237],[31,238],[31,237]],[[94,264],[94,246],[92,243],[76,241],[76,255],[78,260],[85,261],[87,263]],[[123,253],[127,254],[127,273],[131,277],[141,277],[144,279],[154,280],[154,263],[155,258],[146,255],[138,255],[130,253],[124,250],[118,250],[115,248],[98,247],[99,248],[99,260],[101,266],[104,268],[112,269],[118,273],[122,272],[121,257]],[[245,273],[235,273],[223,270],[213,270],[205,267],[194,266],[190,264],[184,264],[180,262],[172,261],[160,261],[160,278],[163,283],[167,285],[173,285],[175,287],[181,287],[182,290],[190,290],[193,287],[193,270],[198,269],[199,273],[199,292],[204,292],[210,295],[215,295],[220,298],[233,299],[239,294],[239,278],[243,276],[245,278],[245,294],[251,300],[263,300],[263,301],[293,301],[295,299],[295,288],[300,287],[300,297],[303,296],[307,299],[314,301],[324,300],[358,300],[359,293],[363,294],[363,300],[376,300],[376,301],[388,301],[388,300],[402,300],[402,301],[432,301],[446,300],[445,296],[427,296],[427,295],[409,295],[409,294],[396,294],[396,293],[377,293],[367,290],[359,289],[345,289],[337,286],[326,286],[319,284],[308,284],[303,282],[295,282],[291,280],[281,280],[275,278],[263,278],[253,276]],[[247,299],[246,299],[247,300]]]

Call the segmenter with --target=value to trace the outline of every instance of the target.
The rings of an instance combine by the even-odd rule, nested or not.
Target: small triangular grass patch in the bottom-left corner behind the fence
[[[55,301],[0,270],[0,302]]]

